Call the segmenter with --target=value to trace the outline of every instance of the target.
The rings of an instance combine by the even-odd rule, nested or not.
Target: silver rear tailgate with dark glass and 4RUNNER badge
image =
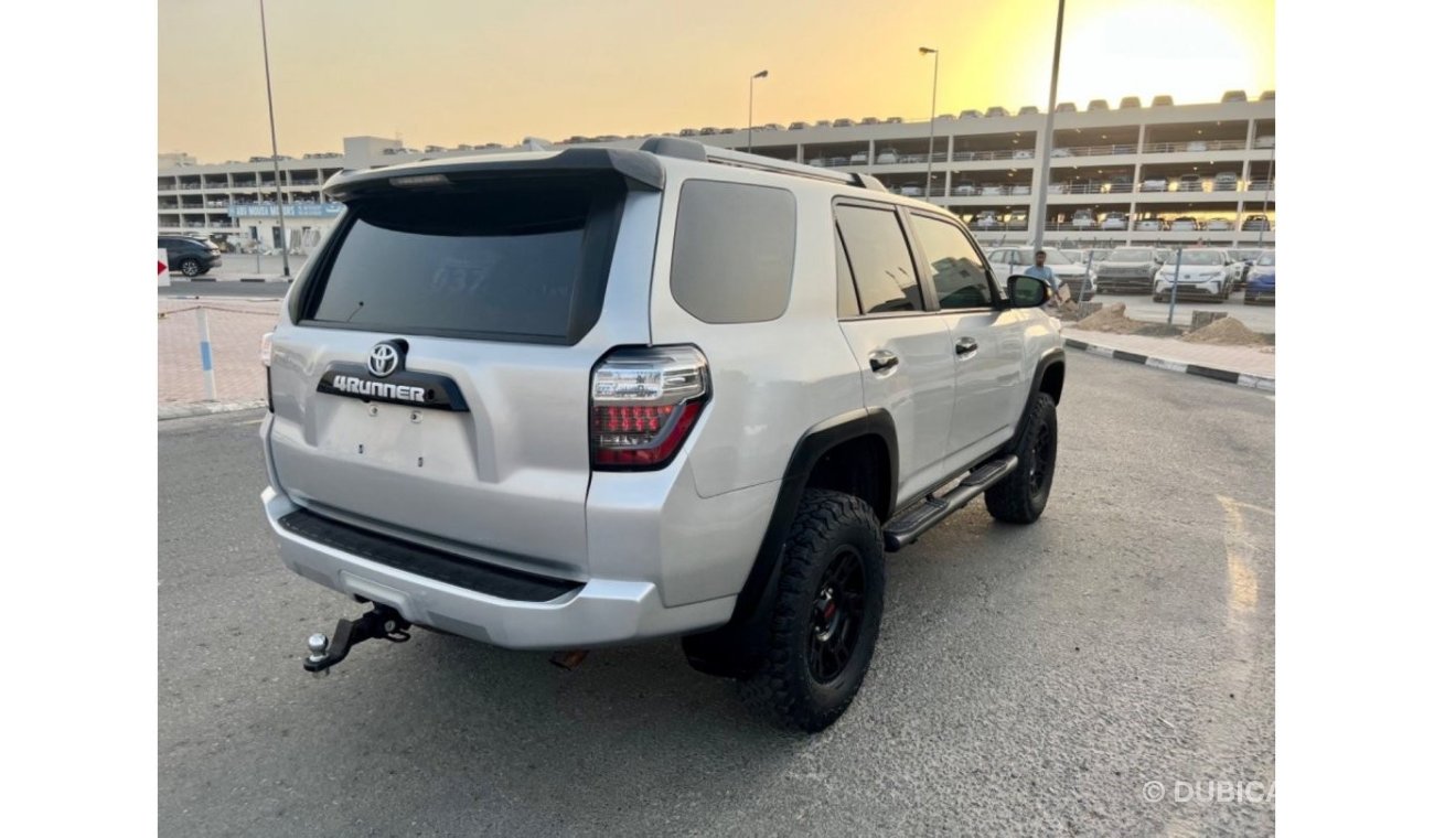
[[[278,488],[582,579],[589,375],[648,342],[657,202],[612,172],[353,199],[274,335]]]

